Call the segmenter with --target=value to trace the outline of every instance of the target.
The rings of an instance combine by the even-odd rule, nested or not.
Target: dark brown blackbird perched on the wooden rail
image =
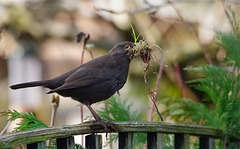
[[[101,119],[91,104],[103,101],[118,92],[126,83],[133,42],[116,44],[109,53],[93,59],[56,78],[10,86],[11,89],[43,86],[64,97],[85,104],[95,120],[107,131],[107,122]]]

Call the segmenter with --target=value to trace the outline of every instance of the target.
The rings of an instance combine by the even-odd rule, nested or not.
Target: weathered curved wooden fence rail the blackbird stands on
[[[114,124],[115,126],[108,128],[108,132],[117,132],[119,134],[120,149],[131,148],[134,133],[147,133],[147,145],[149,148],[162,148],[163,134],[174,134],[175,148],[179,149],[189,148],[189,135],[200,137],[200,149],[212,148],[212,138],[221,138],[222,136],[222,132],[219,129],[196,125],[156,122],[114,122]],[[49,139],[57,139],[57,143],[65,141],[65,144],[71,146],[71,144],[73,144],[72,136],[74,135],[102,132],[104,132],[104,129],[98,123],[84,123],[23,131],[0,136],[0,148],[11,148],[21,144],[31,145],[33,143],[44,142]],[[90,135],[88,137],[90,138],[92,136]],[[59,141],[61,139],[63,140]]]

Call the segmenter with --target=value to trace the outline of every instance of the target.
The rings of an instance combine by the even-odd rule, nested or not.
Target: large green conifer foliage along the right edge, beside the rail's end
[[[235,19],[234,22],[234,25],[238,24]],[[164,115],[186,123],[199,124],[203,120],[203,125],[223,131],[222,144],[225,148],[234,148],[236,144],[230,140],[240,139],[240,37],[234,33],[222,32],[218,32],[217,37],[218,45],[227,51],[220,66],[187,68],[188,71],[203,74],[202,78],[188,83],[204,93],[204,103],[190,99],[166,101],[167,110]]]

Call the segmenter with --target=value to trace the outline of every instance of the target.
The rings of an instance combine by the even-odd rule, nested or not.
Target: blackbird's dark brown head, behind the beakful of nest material
[[[129,60],[131,60],[129,55],[134,46],[135,44],[130,41],[119,42],[110,50],[109,54],[117,57],[127,57]]]

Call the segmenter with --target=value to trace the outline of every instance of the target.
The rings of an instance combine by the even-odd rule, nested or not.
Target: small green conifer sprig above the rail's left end
[[[46,128],[48,127],[46,124],[42,123],[38,120],[32,112],[17,112],[16,110],[8,110],[0,113],[0,116],[10,116],[9,120],[22,119],[20,123],[18,123],[18,127],[14,128],[13,132],[19,132],[24,130],[33,130],[37,128]]]

